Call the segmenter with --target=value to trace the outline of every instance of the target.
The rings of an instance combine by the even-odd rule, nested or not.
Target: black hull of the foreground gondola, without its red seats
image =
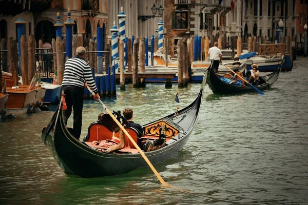
[[[204,84],[203,84],[204,88]],[[155,151],[145,152],[152,164],[164,162],[176,156],[184,147],[194,128],[201,106],[203,88],[195,101],[179,111],[162,119],[168,119],[183,129],[177,138]],[[49,125],[43,130],[42,141],[51,151],[54,159],[62,170],[73,177],[92,178],[101,176],[121,175],[134,169],[147,167],[143,157],[138,154],[113,154],[100,152],[76,140],[63,120],[62,101],[54,113]],[[161,119],[159,119],[161,120]],[[144,127],[151,125],[150,122]]]

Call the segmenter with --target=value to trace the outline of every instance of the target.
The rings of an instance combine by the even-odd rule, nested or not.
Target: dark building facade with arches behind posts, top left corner
[[[60,13],[61,23],[64,23],[68,9],[71,11],[71,20],[75,23],[73,34],[78,35],[80,45],[83,45],[84,39],[96,37],[97,27],[103,27],[104,33],[107,32],[108,0],[26,0],[23,1],[24,7],[20,7],[18,2],[6,3],[0,11],[1,38],[16,39],[14,22],[23,19],[27,22],[25,32],[27,38],[29,34],[34,34],[37,42],[38,39],[50,41],[51,38],[55,38],[53,25],[56,23],[56,13]],[[18,9],[20,10],[13,12]],[[64,26],[62,29],[64,37],[65,31]]]

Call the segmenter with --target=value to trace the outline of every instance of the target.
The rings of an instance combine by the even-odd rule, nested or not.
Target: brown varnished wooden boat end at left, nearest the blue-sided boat
[[[7,87],[7,93],[10,94],[7,103],[8,114],[23,115],[27,113],[30,106],[36,106],[36,89]]]

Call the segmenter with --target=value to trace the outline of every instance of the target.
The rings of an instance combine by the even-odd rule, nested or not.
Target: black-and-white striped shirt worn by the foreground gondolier
[[[85,81],[90,89],[97,94],[98,89],[92,76],[91,68],[79,55],[66,61],[62,86],[84,87]]]

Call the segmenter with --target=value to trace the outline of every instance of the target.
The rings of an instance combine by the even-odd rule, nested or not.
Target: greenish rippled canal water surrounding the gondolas
[[[219,95],[205,88],[201,112],[182,152],[149,168],[93,179],[68,178],[41,141],[53,114],[0,124],[0,204],[306,204],[308,201],[308,58],[298,57],[265,95]],[[140,124],[191,103],[201,84],[147,84],[103,99],[110,110],[134,110]],[[51,109],[55,109],[54,107]],[[82,135],[103,108],[86,101]],[[72,119],[69,119],[72,125]]]

